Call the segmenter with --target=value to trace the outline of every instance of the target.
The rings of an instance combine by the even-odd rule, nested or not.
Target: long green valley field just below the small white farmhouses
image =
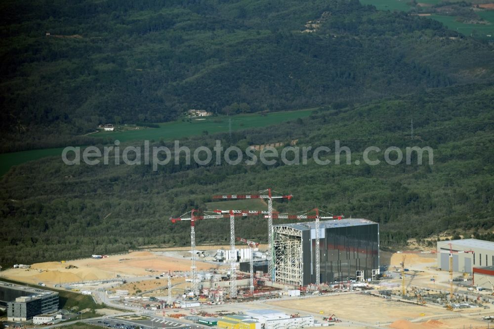
[[[263,127],[283,121],[308,117],[315,109],[304,109],[289,112],[273,112],[265,116],[259,114],[246,114],[232,116],[232,130]],[[95,138],[108,138],[120,140],[121,142],[132,140],[173,140],[188,136],[201,135],[204,131],[208,134],[227,132],[229,129],[229,118],[207,117],[191,118],[191,121],[177,120],[173,122],[160,123],[159,128],[147,128],[141,130],[127,130],[122,132],[100,132],[91,135]]]

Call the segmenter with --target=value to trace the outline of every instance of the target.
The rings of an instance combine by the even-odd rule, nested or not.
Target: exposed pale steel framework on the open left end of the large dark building
[[[273,226],[275,282],[302,285],[302,232],[289,226]]]

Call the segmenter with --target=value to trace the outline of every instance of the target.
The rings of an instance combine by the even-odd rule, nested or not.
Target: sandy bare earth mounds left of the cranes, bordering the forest
[[[68,265],[78,268],[66,269]],[[217,268],[198,261],[198,270]],[[153,272],[146,271],[153,270]],[[30,269],[8,269],[1,272],[2,277],[37,284],[48,285],[81,281],[105,280],[128,276],[156,275],[168,271],[188,271],[190,259],[156,255],[149,251],[136,251],[128,254],[112,255],[102,259],[83,258],[60,262],[45,262],[31,265]]]

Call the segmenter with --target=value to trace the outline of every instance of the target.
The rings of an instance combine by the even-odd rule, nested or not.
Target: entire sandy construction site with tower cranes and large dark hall
[[[213,199],[265,200],[267,210],[191,209],[170,218],[190,230],[190,247],[23,265],[1,274],[206,327],[488,328],[494,319],[493,243],[467,239],[383,252],[379,224],[369,219],[318,208],[273,210],[273,201],[292,198],[270,189],[219,195]],[[249,216],[268,221],[267,245],[236,234],[236,219]],[[197,222],[219,218],[230,220],[230,244],[196,246]],[[273,219],[288,223],[274,225]],[[479,272],[481,264],[487,268]]]

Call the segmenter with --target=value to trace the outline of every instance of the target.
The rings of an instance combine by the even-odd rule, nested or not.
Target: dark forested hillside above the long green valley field
[[[486,82],[494,66],[487,42],[358,0],[5,0],[0,39],[0,152],[87,145],[80,135],[97,124],[191,108],[278,111]]]

